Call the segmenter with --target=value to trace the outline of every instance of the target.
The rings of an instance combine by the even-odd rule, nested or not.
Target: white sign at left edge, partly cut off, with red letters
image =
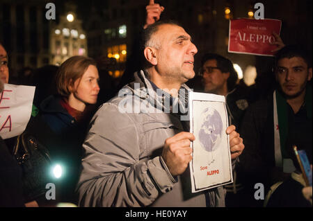
[[[33,106],[35,87],[4,84],[0,94],[0,136],[8,139],[24,132]]]

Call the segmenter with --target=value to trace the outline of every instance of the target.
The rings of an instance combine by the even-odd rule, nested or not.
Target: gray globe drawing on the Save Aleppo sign
[[[223,122],[216,109],[207,107],[201,114],[202,125],[199,130],[199,141],[203,150],[211,153],[209,164],[214,162],[213,152],[218,149],[221,142]]]

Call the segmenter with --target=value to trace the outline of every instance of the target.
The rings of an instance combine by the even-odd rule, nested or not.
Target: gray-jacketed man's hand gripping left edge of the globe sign
[[[189,132],[180,132],[166,139],[162,151],[162,158],[170,170],[172,176],[181,175],[191,161],[190,142],[195,136]]]

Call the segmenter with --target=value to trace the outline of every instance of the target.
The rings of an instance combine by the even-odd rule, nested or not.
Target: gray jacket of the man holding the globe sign
[[[166,139],[184,131],[182,121],[143,71],[135,76],[90,122],[77,186],[79,206],[225,206],[223,187],[191,193],[188,168],[172,177],[160,156]]]

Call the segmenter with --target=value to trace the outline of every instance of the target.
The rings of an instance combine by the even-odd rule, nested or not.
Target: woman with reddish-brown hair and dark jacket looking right
[[[66,170],[59,202],[75,203],[72,193],[79,176],[81,144],[100,90],[96,65],[95,60],[84,56],[67,59],[56,76],[58,94],[49,96],[40,104],[43,121],[62,143],[51,150],[54,159],[59,160]]]

